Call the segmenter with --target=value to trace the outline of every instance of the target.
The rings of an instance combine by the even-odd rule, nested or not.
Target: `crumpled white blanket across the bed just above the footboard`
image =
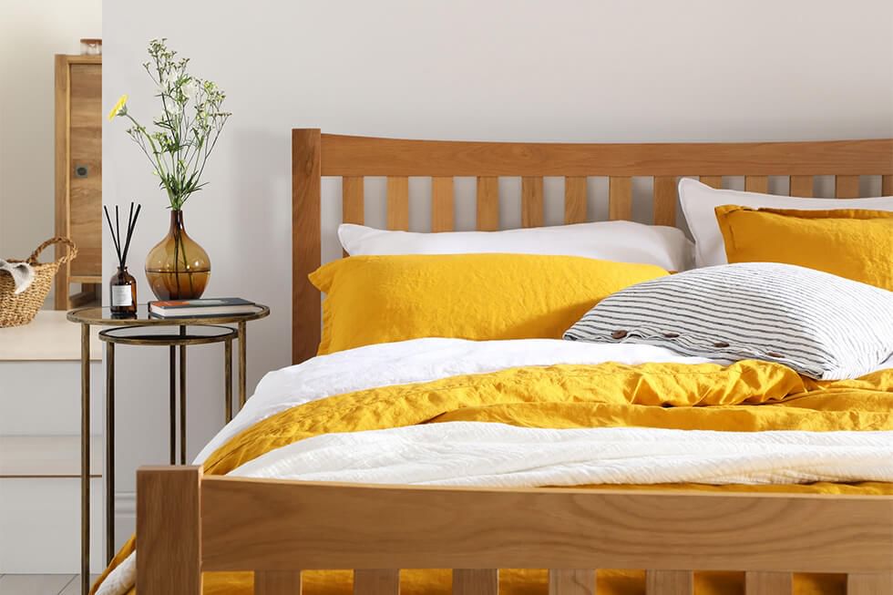
[[[546,429],[450,422],[314,436],[229,475],[487,487],[893,481],[893,432]]]

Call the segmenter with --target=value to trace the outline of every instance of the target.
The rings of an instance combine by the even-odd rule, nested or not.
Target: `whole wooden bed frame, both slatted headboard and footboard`
[[[543,221],[543,176],[565,177],[565,221],[586,221],[586,177],[610,178],[611,219],[631,177],[653,177],[654,222],[675,223],[676,181],[765,191],[789,176],[811,196],[836,176],[893,195],[893,139],[779,143],[545,144],[397,140],[293,130],[293,361],[312,357],[323,176],[343,178],[343,221],[364,221],[364,176],[387,177],[387,225],[408,225],[408,177],[432,177],[432,231],[453,229],[453,177],[477,177],[477,228],[498,229],[498,177],[522,177],[525,226]],[[354,593],[394,595],[399,569],[453,570],[457,594],[496,595],[498,569],[549,569],[553,595],[595,592],[593,569],[647,569],[648,595],[690,595],[693,570],[744,571],[747,595],[789,595],[794,572],[847,574],[848,595],[893,594],[893,498],[585,489],[358,486],[137,474],[139,595],[198,595],[201,572],[251,570],[258,595],[294,595],[301,570],[354,569]]]

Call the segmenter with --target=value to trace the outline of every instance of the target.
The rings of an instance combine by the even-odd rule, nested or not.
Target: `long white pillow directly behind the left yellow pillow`
[[[352,256],[379,254],[471,254],[501,252],[584,256],[603,261],[655,264],[685,271],[693,244],[674,227],[633,221],[597,221],[506,231],[384,231],[343,223],[338,239]]]

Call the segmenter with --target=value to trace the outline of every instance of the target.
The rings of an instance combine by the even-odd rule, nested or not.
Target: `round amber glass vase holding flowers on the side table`
[[[210,279],[208,252],[186,233],[183,211],[170,211],[168,235],[146,257],[146,278],[159,300],[193,300]]]

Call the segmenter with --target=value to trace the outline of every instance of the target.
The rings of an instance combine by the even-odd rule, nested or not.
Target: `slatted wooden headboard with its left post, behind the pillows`
[[[521,177],[521,223],[543,223],[543,177],[565,179],[564,221],[589,221],[590,176],[609,181],[609,217],[631,219],[632,177],[653,178],[653,221],[676,223],[676,182],[698,176],[720,188],[744,176],[746,190],[765,192],[768,176],[790,178],[790,194],[812,196],[814,176],[836,176],[837,198],[859,195],[859,176],[882,176],[893,195],[893,138],[757,143],[528,143],[403,140],[292,130],[292,361],[313,357],[320,340],[320,294],[307,275],[321,263],[323,176],[342,182],[342,221],[364,221],[364,177],[387,177],[387,227],[409,223],[410,176],[430,177],[431,231],[451,231],[453,178],[477,177],[477,229],[499,229],[498,178]]]

